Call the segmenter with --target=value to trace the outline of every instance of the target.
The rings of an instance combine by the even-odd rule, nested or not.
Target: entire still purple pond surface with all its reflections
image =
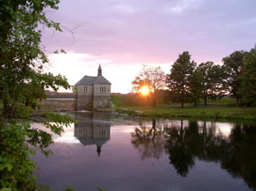
[[[39,183],[54,191],[64,191],[65,185],[77,191],[256,188],[255,123],[71,115],[78,122],[54,137],[54,154],[33,156]]]

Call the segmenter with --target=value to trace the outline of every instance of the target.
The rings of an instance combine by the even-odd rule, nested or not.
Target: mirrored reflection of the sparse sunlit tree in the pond
[[[142,160],[159,159],[165,149],[165,138],[162,129],[157,127],[157,121],[152,120],[151,127],[141,123],[141,127],[132,132],[132,145],[139,150]]]

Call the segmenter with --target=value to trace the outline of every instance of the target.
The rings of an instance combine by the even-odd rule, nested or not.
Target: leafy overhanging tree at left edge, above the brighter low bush
[[[47,20],[45,8],[57,9],[58,0],[1,1],[0,8],[0,100],[5,117],[28,117],[44,89],[69,88],[67,80],[43,73],[48,62],[40,46],[42,27],[61,31]],[[14,116],[15,115],[15,116]]]

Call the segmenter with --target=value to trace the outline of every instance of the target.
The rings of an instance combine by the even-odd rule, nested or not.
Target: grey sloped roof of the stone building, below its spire
[[[94,84],[108,84],[111,85],[111,83],[105,79],[103,76],[84,76],[82,79],[80,79],[75,86],[93,86]]]

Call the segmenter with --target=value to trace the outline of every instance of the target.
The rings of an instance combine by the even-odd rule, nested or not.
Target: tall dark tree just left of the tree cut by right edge
[[[236,99],[236,106],[239,106],[242,95],[239,89],[241,88],[242,75],[244,71],[244,61],[246,52],[235,51],[233,54],[223,58],[224,66],[226,67],[227,86],[230,94]]]

